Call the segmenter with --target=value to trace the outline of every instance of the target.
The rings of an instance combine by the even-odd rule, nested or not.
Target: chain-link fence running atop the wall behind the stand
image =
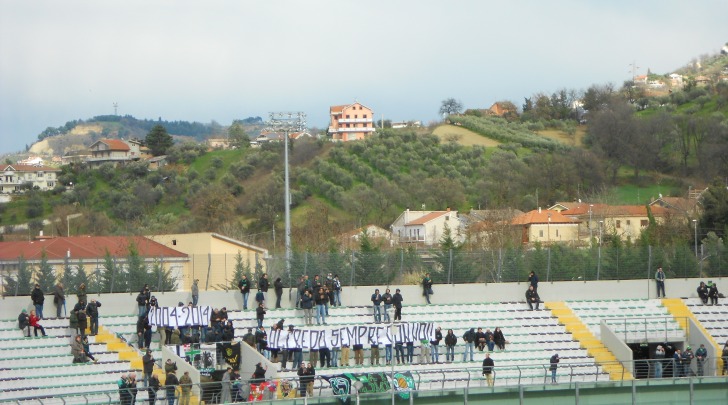
[[[502,248],[481,251],[400,249],[378,252],[293,252],[290,266],[285,254],[269,257],[242,257],[233,254],[190,255],[185,263],[161,259],[146,265],[129,263],[124,257],[110,257],[96,265],[61,264],[53,272],[39,271],[39,265],[26,262],[25,268],[0,266],[3,294],[28,295],[30,286],[41,277],[44,287],[53,291],[62,280],[66,294],[84,282],[89,293],[137,292],[144,284],[153,291],[187,290],[199,279],[200,290],[236,289],[243,274],[255,289],[262,274],[268,274],[270,287],[280,277],[285,287],[295,287],[302,275],[338,275],[343,286],[419,284],[425,273],[434,283],[501,283],[526,281],[530,272],[541,281],[592,281],[654,278],[662,267],[667,278],[722,277],[728,275],[728,251],[704,254],[689,246],[575,248],[562,245],[538,248]],[[78,269],[84,269],[79,271]],[[71,269],[72,276],[67,276]],[[27,287],[26,287],[27,286]]]

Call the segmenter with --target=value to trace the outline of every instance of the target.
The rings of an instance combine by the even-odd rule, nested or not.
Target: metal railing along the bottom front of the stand
[[[698,375],[699,371],[696,370],[696,368],[688,367],[688,368],[681,368],[681,364],[676,363],[673,360],[663,360],[663,361],[656,361],[656,360],[635,360],[635,369],[638,370],[638,373],[646,373],[645,374],[645,380],[646,379],[655,379],[656,374],[655,370],[657,366],[660,367],[660,376],[657,378],[661,379],[668,379],[672,380],[673,384],[680,381],[685,381],[689,386],[692,387],[693,385],[701,384],[703,382],[719,382],[725,386],[726,383],[728,383],[728,378],[725,376],[721,377],[714,377],[715,375],[715,361],[707,362],[703,364],[703,371],[704,375]],[[622,373],[620,378],[616,378],[618,376],[612,375],[612,380],[609,380],[607,378],[607,373],[603,371],[604,364],[602,365],[596,365],[593,363],[573,363],[573,364],[559,364],[557,368],[556,378],[557,383],[555,385],[558,386],[560,389],[574,389],[578,387],[579,385],[586,385],[588,383],[598,383],[603,386],[609,386],[612,385],[614,387],[623,386],[624,383],[630,383],[634,385],[634,382],[630,382],[628,380],[624,379],[624,373]],[[640,371],[642,370],[642,371]],[[687,371],[689,370],[689,371]],[[334,374],[328,374],[331,372],[334,372],[335,370],[326,370],[327,374],[325,376],[331,376]],[[397,369],[396,371],[402,372],[405,371],[403,369]],[[431,369],[431,370],[406,370],[409,371],[413,379],[416,381],[415,387],[416,389],[411,391],[406,391],[409,393],[417,393],[419,394],[426,394],[426,393],[437,393],[437,392],[443,392],[445,390],[449,392],[456,392],[459,390],[462,390],[463,395],[467,396],[468,392],[472,390],[477,389],[495,389],[500,387],[512,387],[512,388],[518,388],[519,391],[523,391],[524,389],[528,387],[539,387],[539,386],[545,386],[545,385],[552,385],[551,384],[551,370],[549,364],[530,364],[530,365],[517,365],[517,366],[510,366],[510,367],[498,367],[497,364],[493,369],[493,386],[489,386],[487,383],[487,380],[483,377],[482,368],[481,367],[471,367],[471,368],[459,368],[459,369]],[[349,370],[342,371],[342,372],[349,372]],[[349,395],[334,395],[333,391],[331,389],[331,385],[329,382],[323,377],[323,376],[315,376],[312,382],[312,386],[308,387],[306,385],[302,385],[300,382],[300,379],[298,377],[292,377],[292,378],[276,378],[272,380],[260,380],[260,381],[234,381],[231,382],[230,386],[230,402],[245,402],[249,400],[250,395],[250,384],[254,383],[256,385],[260,383],[265,383],[264,387],[265,389],[262,391],[262,394],[260,395],[260,399],[256,399],[255,402],[263,401],[263,402],[278,402],[277,396],[279,391],[283,390],[283,386],[289,387],[289,392],[296,393],[296,397],[300,398],[299,394],[303,394],[305,392],[312,393],[313,397],[317,398],[327,398],[331,399],[331,403],[334,403],[334,401],[338,401],[336,398],[344,398],[348,396],[356,396],[361,397],[362,399],[366,399],[367,397],[373,398],[377,397],[378,399],[383,398],[391,398],[392,401],[394,401],[395,396],[399,395],[402,391],[393,391],[391,390],[391,381],[392,377],[394,375],[394,370],[387,369],[383,367],[381,371],[378,371],[376,373],[381,373],[385,376],[389,376],[390,380],[388,381],[388,384],[385,385],[385,387],[379,387],[378,390],[374,390],[373,392],[366,392],[367,390],[372,389],[373,387],[365,387],[363,385],[359,385],[357,387],[357,384],[353,384],[353,387],[356,387],[358,389],[358,392],[362,392],[359,394],[357,390],[352,389],[351,392],[349,392]],[[339,373],[340,374],[340,373]],[[639,374],[638,374],[639,375]],[[79,383],[81,384],[81,383]],[[281,388],[277,388],[278,386],[281,386]],[[222,390],[222,384],[221,382],[211,382],[211,383],[201,383],[201,384],[192,384],[192,390],[191,392],[201,392],[203,400],[206,401],[206,403],[219,403],[222,400],[223,393]],[[276,389],[271,389],[270,387],[276,387]],[[384,389],[386,388],[386,389]],[[137,390],[137,400],[138,403],[141,403],[142,399],[148,398],[150,391],[148,388],[145,388],[143,386],[143,383],[141,381],[138,381],[138,387]],[[578,390],[577,390],[578,392]],[[50,405],[50,404],[69,404],[69,405],[75,405],[75,404],[88,404],[88,403],[95,403],[95,404],[102,404],[102,403],[108,403],[108,404],[118,404],[120,402],[120,395],[125,394],[120,389],[115,390],[102,390],[102,391],[94,391],[94,392],[87,392],[87,393],[70,393],[70,394],[53,394],[53,395],[39,395],[39,396],[28,396],[28,397],[22,397],[22,398],[14,398],[14,399],[5,399],[0,400],[2,403],[26,403],[33,401],[34,403],[44,404],[44,405]],[[176,399],[180,399],[181,397],[181,389],[179,387],[175,388],[174,395]],[[303,394],[306,395],[306,394]],[[410,395],[410,398],[415,397],[414,395]],[[281,398],[281,400],[289,400],[293,397],[288,398]],[[167,391],[164,386],[162,386],[158,391],[156,391],[156,401],[160,403],[165,403],[167,401]],[[227,398],[226,398],[227,399]],[[412,401],[412,400],[411,400]],[[327,401],[328,402],[328,401]],[[416,401],[414,401],[416,402]],[[304,398],[304,403],[306,403],[306,399]]]

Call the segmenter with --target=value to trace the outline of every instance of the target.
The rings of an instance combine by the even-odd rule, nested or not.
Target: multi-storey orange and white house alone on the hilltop
[[[329,108],[329,136],[335,142],[358,141],[373,134],[374,112],[358,102]]]

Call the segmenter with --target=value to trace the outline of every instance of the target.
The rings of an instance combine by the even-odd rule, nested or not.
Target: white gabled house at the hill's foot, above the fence
[[[462,242],[460,218],[457,211],[410,211],[405,210],[392,223],[392,237],[398,243],[414,243],[433,246],[440,243],[445,228],[452,238]]]

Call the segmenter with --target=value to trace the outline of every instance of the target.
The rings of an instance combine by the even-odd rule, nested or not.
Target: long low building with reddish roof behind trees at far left
[[[187,254],[152,241],[143,236],[71,236],[43,237],[32,241],[0,242],[0,272],[14,274],[22,257],[25,262],[37,268],[43,256],[53,267],[55,274],[63,274],[66,264],[76,269],[79,264],[87,274],[93,275],[104,269],[107,252],[117,265],[124,266],[129,257],[129,247],[134,246],[148,269],[162,264],[182,287],[183,275],[187,272]]]

